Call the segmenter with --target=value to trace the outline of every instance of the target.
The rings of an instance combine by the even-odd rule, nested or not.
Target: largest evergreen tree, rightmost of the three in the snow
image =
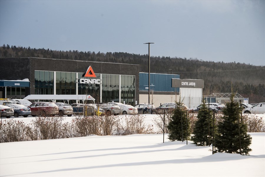
[[[223,108],[223,121],[218,124],[217,134],[214,136],[214,153],[240,153],[247,155],[251,149],[251,137],[247,134],[247,126],[241,120],[241,108],[233,101],[232,94],[230,103]]]

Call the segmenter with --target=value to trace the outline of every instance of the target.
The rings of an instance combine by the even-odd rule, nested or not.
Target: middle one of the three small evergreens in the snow
[[[212,123],[212,111],[209,111],[208,106],[203,104],[198,111],[197,121],[193,129],[193,136],[191,140],[197,146],[210,145],[213,140],[213,123]]]

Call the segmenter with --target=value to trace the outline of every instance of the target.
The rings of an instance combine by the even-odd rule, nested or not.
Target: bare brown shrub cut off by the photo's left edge
[[[0,142],[27,141],[27,126],[22,121],[7,119],[0,122]]]

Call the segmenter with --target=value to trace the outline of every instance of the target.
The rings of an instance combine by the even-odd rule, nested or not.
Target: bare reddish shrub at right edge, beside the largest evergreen
[[[255,114],[243,114],[242,120],[247,124],[248,132],[265,132],[265,122]]]

